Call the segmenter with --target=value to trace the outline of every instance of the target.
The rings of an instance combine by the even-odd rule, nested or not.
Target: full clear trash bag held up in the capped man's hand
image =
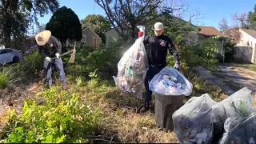
[[[113,76],[119,90],[130,93],[135,98],[142,99],[142,90],[149,64],[143,44],[145,26],[137,26],[143,32],[132,46],[123,54],[118,62],[118,74]]]

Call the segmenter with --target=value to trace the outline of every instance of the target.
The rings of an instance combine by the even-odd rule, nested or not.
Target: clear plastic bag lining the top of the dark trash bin
[[[150,90],[162,95],[186,95],[192,92],[193,85],[187,78],[171,67],[163,68],[150,81]]]

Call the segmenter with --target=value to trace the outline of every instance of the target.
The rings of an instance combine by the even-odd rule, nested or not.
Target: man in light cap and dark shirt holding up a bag
[[[149,44],[150,47],[150,54],[148,55],[150,67],[145,79],[146,98],[144,106],[138,110],[138,113],[145,113],[147,110],[150,110],[152,91],[149,88],[149,82],[154,78],[154,75],[158,74],[167,65],[167,51],[174,55],[174,67],[178,70],[180,69],[178,51],[175,49],[171,39],[163,34],[164,26],[162,22],[156,22],[152,30],[154,30],[154,35],[147,35],[144,38],[144,45]],[[141,36],[142,34],[139,32],[138,37]]]

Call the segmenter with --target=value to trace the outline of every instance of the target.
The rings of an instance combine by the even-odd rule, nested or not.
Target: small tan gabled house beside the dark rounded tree
[[[82,29],[81,42],[83,45],[96,46],[98,49],[99,46],[101,46],[102,44],[102,38],[100,38],[98,34],[94,32],[94,30],[91,30],[89,27],[86,27]]]

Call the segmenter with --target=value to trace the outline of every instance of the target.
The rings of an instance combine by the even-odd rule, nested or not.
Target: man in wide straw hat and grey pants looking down
[[[46,75],[46,87],[50,88],[52,85],[51,70],[53,64],[58,71],[58,77],[62,82],[62,90],[66,90],[66,78],[63,69],[62,58],[59,55],[62,53],[62,44],[51,35],[50,30],[44,30],[35,36],[38,43],[38,50],[43,58],[43,67]],[[53,61],[51,58],[56,58]]]

